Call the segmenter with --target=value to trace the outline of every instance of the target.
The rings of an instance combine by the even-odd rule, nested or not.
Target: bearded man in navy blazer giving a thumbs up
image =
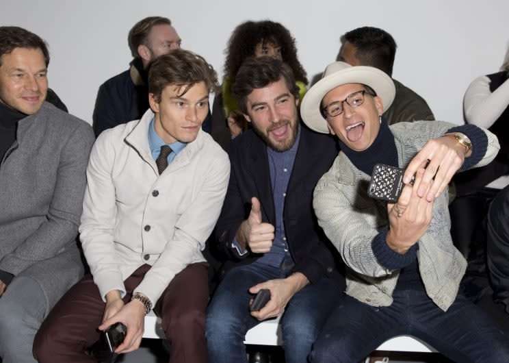
[[[216,225],[228,261],[207,312],[211,362],[247,362],[246,331],[282,320],[286,362],[306,362],[344,279],[313,214],[313,188],[338,153],[329,136],[302,127],[298,87],[274,58],[247,60],[233,93],[252,129],[230,145],[231,174]],[[261,289],[270,300],[249,312]]]

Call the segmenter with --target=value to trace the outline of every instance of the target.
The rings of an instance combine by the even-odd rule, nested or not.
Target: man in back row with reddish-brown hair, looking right
[[[148,110],[148,68],[159,55],[181,46],[181,38],[168,18],[149,16],[136,23],[129,32],[131,67],[108,79],[99,87],[94,114],[94,133],[142,118]],[[211,114],[202,128],[210,132]]]

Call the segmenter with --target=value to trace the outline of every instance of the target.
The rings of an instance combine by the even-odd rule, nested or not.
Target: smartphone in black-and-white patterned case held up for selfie
[[[367,187],[367,195],[379,201],[395,203],[400,198],[405,184],[402,168],[386,164],[376,164]],[[413,182],[413,181],[412,181]]]

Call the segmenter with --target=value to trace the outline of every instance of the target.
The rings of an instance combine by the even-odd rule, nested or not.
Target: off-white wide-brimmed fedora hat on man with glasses
[[[382,99],[384,112],[389,108],[396,89],[394,82],[378,68],[368,66],[350,66],[345,62],[334,62],[325,68],[324,75],[313,87],[309,88],[300,103],[300,116],[310,129],[328,134],[327,121],[320,112],[322,99],[326,93],[337,86],[350,83],[365,84],[373,88]]]

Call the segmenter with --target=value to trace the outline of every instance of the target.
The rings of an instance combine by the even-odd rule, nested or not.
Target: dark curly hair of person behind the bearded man
[[[237,25],[228,42],[228,48],[224,51],[226,62],[224,74],[235,79],[242,62],[254,55],[254,49],[259,43],[272,42],[281,47],[283,62],[287,63],[295,79],[307,84],[306,71],[297,58],[297,47],[287,28],[274,21],[246,21]]]

